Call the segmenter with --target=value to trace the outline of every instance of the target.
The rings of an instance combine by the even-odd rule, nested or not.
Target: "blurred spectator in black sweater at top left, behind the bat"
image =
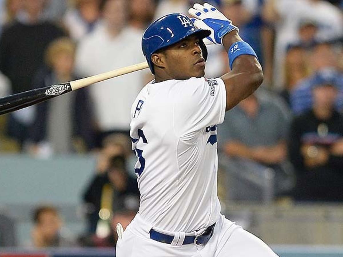
[[[44,0],[23,0],[22,11],[1,34],[0,71],[10,79],[13,94],[32,89],[33,76],[43,65],[47,45],[64,35],[59,27],[42,18],[44,3]],[[26,108],[10,115],[8,134],[21,145],[34,120],[33,110]]]

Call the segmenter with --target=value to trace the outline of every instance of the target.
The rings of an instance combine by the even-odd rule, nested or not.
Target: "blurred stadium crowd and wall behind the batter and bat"
[[[144,61],[155,18],[202,1],[0,0],[0,97]],[[282,257],[343,256],[343,1],[208,0],[264,82],[218,125],[222,212]],[[206,77],[229,71],[209,46]],[[0,256],[114,256],[139,206],[131,73],[0,116]],[[239,85],[238,85],[239,86]]]

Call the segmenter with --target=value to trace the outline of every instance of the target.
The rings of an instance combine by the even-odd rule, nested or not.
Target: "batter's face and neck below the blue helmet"
[[[205,75],[199,38],[189,36],[164,50],[165,69],[175,79],[188,79]]]

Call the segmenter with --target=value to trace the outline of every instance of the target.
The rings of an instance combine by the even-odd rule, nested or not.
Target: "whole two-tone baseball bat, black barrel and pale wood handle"
[[[143,70],[146,68],[148,68],[147,62],[142,62],[98,75],[77,79],[67,83],[36,88],[24,91],[22,93],[5,96],[0,98],[0,115],[46,101],[48,99],[66,94],[70,91],[74,91],[76,89],[89,86],[100,81],[104,81],[109,78],[118,77],[120,75]]]

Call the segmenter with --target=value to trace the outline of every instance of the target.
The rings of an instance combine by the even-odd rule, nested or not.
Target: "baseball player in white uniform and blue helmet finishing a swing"
[[[259,238],[220,214],[217,125],[225,111],[263,80],[253,49],[212,5],[194,4],[154,21],[142,49],[155,79],[131,109],[131,139],[140,209],[123,232],[118,257],[277,256]],[[204,78],[204,43],[222,44],[231,72]]]

